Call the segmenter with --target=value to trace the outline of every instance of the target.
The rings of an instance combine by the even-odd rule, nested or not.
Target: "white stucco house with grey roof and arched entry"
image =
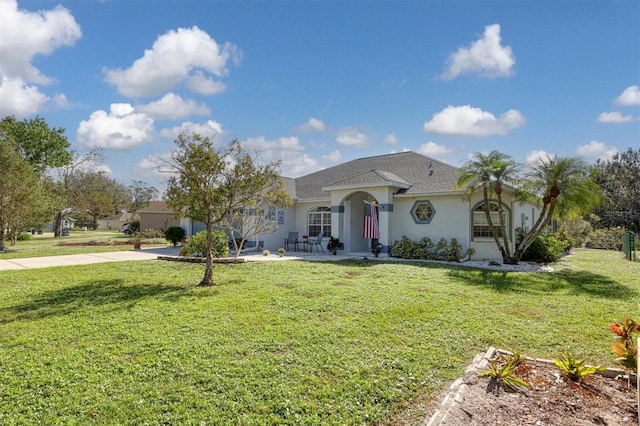
[[[456,167],[409,151],[359,158],[298,178],[283,178],[293,206],[275,212],[274,233],[259,235],[247,246],[275,251],[284,247],[289,232],[297,232],[300,238],[323,233],[325,247],[334,236],[346,253],[369,251],[372,240],[363,236],[365,206],[375,202],[383,254],[403,236],[415,241],[429,237],[434,243],[456,238],[465,250],[475,250],[474,258],[500,259],[486,223],[482,191],[466,197],[463,190],[455,189],[458,177]],[[515,200],[508,189],[502,198],[507,232],[515,245],[516,229],[533,226],[540,211],[534,204]],[[498,223],[497,211],[492,209],[491,214]],[[203,229],[188,218],[180,225],[187,235]]]

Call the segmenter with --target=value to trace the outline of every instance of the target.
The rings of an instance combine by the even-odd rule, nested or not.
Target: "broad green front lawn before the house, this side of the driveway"
[[[162,261],[0,273],[0,424],[419,424],[488,346],[614,365],[640,265]]]

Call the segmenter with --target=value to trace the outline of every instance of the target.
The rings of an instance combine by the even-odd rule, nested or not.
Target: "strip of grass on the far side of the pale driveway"
[[[107,246],[69,246],[65,244],[87,241],[108,242]],[[27,241],[17,241],[12,246],[6,241],[6,251],[0,252],[0,259],[18,259],[25,257],[59,256],[81,253],[104,253],[109,251],[131,250],[133,243],[131,237],[116,231],[72,231],[67,237],[53,238],[37,236]],[[151,241],[154,244],[149,244]],[[157,242],[160,242],[159,244]],[[147,240],[143,247],[165,246],[164,238]]]

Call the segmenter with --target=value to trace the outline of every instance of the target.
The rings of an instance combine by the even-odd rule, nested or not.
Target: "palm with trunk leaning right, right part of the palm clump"
[[[600,188],[589,177],[589,166],[578,158],[548,156],[531,166],[520,198],[542,201],[540,216],[516,248],[516,263],[553,218],[576,216],[600,203]]]

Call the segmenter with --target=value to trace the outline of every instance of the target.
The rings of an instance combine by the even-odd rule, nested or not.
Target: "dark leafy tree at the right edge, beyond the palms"
[[[640,232],[640,148],[598,160],[591,172],[602,190],[602,206],[595,211],[600,220],[593,225]]]

